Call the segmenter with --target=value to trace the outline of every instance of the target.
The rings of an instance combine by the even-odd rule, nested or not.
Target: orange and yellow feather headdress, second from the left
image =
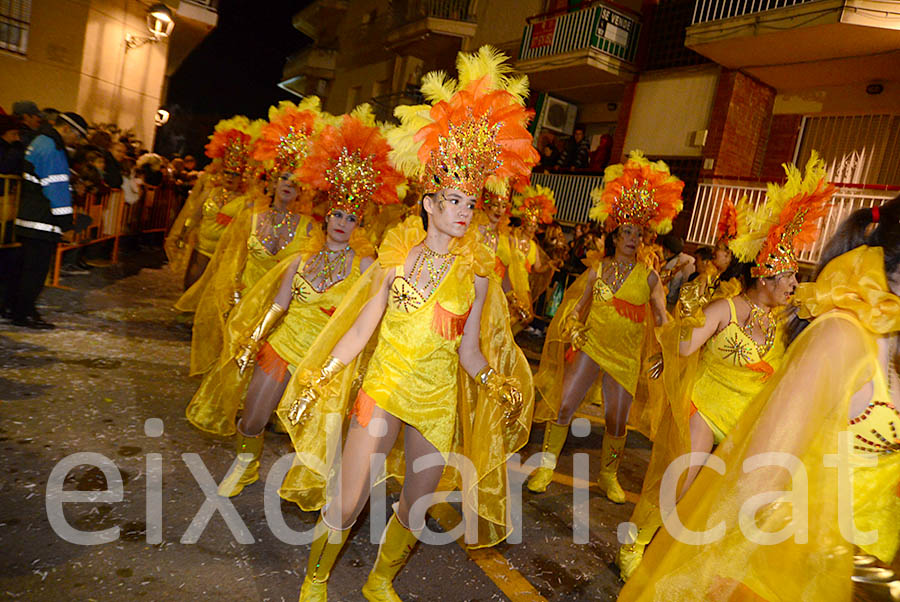
[[[319,99],[308,96],[299,105],[283,100],[269,108],[269,123],[253,148],[270,176],[296,172],[309,153],[310,142],[334,117],[323,113]]]

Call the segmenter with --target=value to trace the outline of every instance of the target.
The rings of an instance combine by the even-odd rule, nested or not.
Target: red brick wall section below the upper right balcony
[[[764,164],[775,90],[738,71],[723,69],[713,101],[704,158],[715,159],[701,175],[759,175]]]

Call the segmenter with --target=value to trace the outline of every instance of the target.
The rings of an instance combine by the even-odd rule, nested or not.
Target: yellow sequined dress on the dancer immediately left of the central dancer
[[[359,278],[359,262],[360,258],[355,256],[347,277],[322,292],[303,277],[305,262],[297,268],[291,279],[291,303],[287,313],[267,339],[287,363],[296,366],[306,355],[306,350],[325,328],[341,299]]]

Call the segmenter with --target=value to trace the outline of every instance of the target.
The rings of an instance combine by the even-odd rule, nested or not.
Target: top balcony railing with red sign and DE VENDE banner
[[[525,26],[519,59],[528,60],[592,48],[634,62],[640,23],[602,2]]]

